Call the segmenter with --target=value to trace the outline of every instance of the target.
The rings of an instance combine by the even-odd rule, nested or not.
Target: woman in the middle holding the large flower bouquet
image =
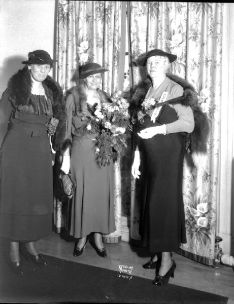
[[[87,118],[97,104],[109,102],[107,93],[99,89],[102,73],[107,71],[97,63],[87,63],[79,69],[79,84],[71,90],[66,99],[68,111],[67,138],[72,141],[71,173],[76,180],[73,195],[70,235],[79,239],[75,243],[74,256],[83,252],[86,238],[94,233],[98,255],[107,256],[102,235],[116,230],[113,197],[113,163],[102,166],[97,161],[97,134],[83,132]],[[65,153],[66,154],[66,153]],[[69,171],[70,156],[63,156],[61,170]],[[67,164],[67,165],[66,165]]]

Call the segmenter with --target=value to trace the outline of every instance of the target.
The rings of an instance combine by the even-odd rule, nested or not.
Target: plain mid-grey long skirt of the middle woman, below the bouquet
[[[75,238],[116,230],[113,163],[102,166],[95,149],[95,140],[73,137],[71,173],[77,186],[71,208],[70,235]]]

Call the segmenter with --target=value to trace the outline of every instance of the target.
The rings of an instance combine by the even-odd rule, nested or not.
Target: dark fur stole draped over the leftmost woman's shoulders
[[[63,92],[57,82],[55,82],[49,75],[43,81],[53,93],[53,116],[59,120],[56,133],[53,136],[53,148],[57,151],[65,137],[66,128],[66,108],[63,98]],[[27,67],[18,70],[9,80],[8,88],[10,99],[14,100],[14,105],[27,105],[31,96],[32,80]]]

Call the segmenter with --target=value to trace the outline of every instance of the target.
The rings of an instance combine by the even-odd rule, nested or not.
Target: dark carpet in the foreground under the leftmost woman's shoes
[[[0,302],[17,303],[227,303],[226,297],[46,256],[49,264],[25,264],[23,276],[0,265]]]

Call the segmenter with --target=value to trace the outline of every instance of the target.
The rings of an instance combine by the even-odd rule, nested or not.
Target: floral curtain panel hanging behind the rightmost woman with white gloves
[[[178,56],[171,72],[190,82],[211,122],[206,164],[198,169],[184,160],[183,197],[187,244],[180,253],[199,262],[213,264],[218,199],[220,153],[222,3],[129,2],[129,52],[133,86],[146,71],[136,60],[151,49]],[[140,240],[139,180],[131,184],[130,237]]]

